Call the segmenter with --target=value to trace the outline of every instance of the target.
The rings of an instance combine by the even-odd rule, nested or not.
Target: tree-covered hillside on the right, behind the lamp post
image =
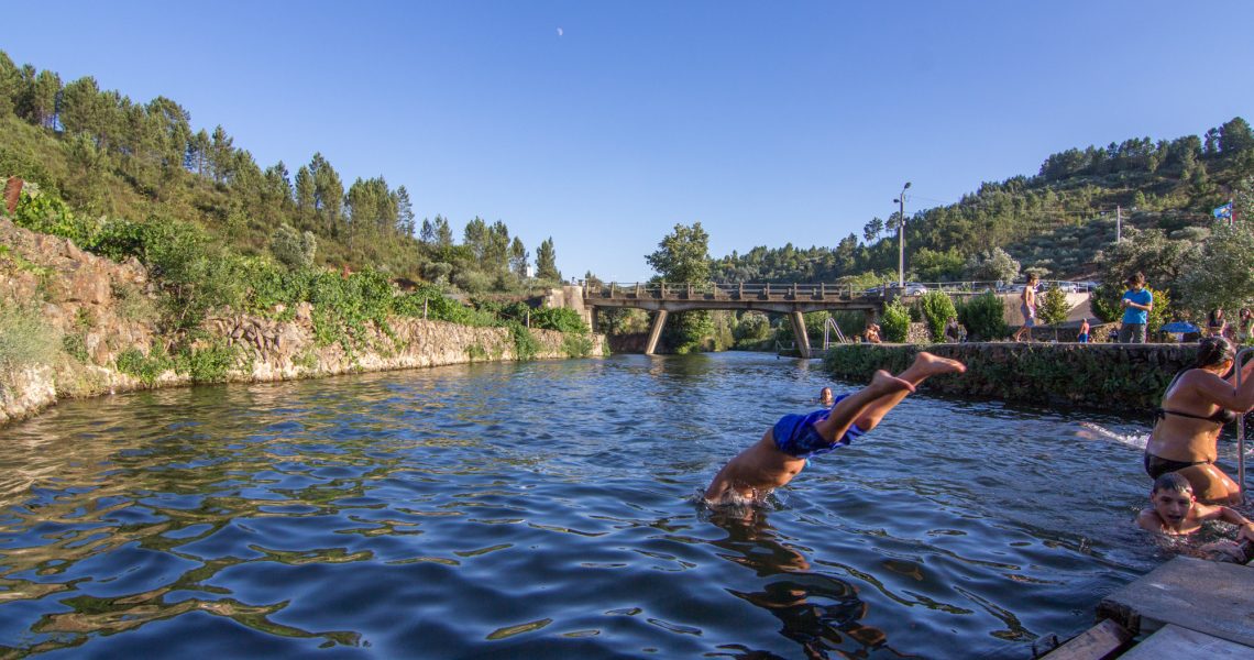
[[[993,247],[1025,269],[1043,269],[1048,277],[1086,277],[1095,270],[1096,252],[1115,240],[1116,210],[1125,227],[1196,240],[1214,225],[1211,210],[1251,174],[1254,133],[1239,117],[1201,138],[1134,138],[1067,149],[1046,158],[1036,176],[983,183],[954,205],[908,217],[907,279],[968,277],[972,257]],[[895,216],[870,220],[861,236],[833,236],[830,246],[732,252],[714,261],[714,277],[784,282],[835,281],[869,271],[895,276]]]

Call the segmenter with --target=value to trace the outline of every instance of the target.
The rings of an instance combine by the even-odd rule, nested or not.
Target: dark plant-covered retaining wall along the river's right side
[[[1146,414],[1196,356],[1194,344],[845,344],[828,351],[824,366],[863,381],[875,369],[900,371],[922,350],[967,365],[966,374],[930,379],[924,390]]]

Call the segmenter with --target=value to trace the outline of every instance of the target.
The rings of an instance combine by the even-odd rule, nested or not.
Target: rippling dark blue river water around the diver
[[[64,403],[0,429],[0,655],[1030,657],[1164,558],[1119,439],[1146,423],[996,402],[910,397],[766,509],[698,504],[815,407],[818,365],[619,355]]]

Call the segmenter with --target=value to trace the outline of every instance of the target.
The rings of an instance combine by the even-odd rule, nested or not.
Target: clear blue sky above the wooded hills
[[[1051,153],[1254,120],[1254,3],[58,3],[0,36],[19,65],[166,95],[295,172],[404,184],[460,241],[474,216],[567,276],[834,246],[1035,174]],[[561,34],[559,34],[561,30]]]

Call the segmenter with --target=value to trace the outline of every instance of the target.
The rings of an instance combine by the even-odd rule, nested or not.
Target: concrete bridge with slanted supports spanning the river
[[[608,284],[584,285],[582,302],[591,311],[596,327],[597,310],[638,309],[657,312],[648,333],[646,355],[657,349],[662,326],[672,311],[691,310],[756,310],[786,314],[798,338],[803,358],[810,356],[810,339],[803,314],[824,310],[859,310],[868,321],[880,314],[885,299],[865,295],[848,285],[834,284]]]

